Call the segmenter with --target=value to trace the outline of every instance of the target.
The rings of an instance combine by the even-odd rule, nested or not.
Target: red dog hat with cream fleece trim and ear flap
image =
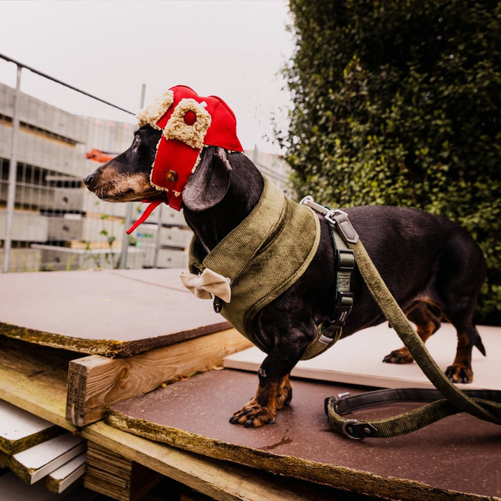
[[[162,130],[150,180],[166,191],[169,205],[180,210],[182,191],[200,161],[204,145],[244,151],[237,120],[220,97],[201,97],[186,86],[175,86],[137,115],[139,127]]]

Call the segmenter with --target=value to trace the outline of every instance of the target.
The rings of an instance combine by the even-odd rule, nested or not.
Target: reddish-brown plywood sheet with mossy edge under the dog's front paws
[[[349,440],[328,428],[324,398],[360,388],[312,381],[292,382],[292,405],[276,423],[230,424],[256,385],[255,374],[206,372],[113,405],[107,422],[198,454],[360,493],[434,501],[501,496],[501,428],[495,424],[458,414],[408,436]],[[357,417],[402,411],[394,404]]]

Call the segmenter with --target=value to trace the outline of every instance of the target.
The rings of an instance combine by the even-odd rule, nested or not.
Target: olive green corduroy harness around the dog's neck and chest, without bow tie
[[[209,268],[230,278],[231,301],[221,303],[221,315],[267,351],[255,336],[253,318],[301,277],[317,252],[319,240],[315,212],[286,198],[265,178],[253,211],[210,253],[193,237],[189,269],[200,273]]]

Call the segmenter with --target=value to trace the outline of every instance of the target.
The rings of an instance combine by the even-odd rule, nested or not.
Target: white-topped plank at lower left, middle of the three
[[[84,438],[65,433],[12,456],[9,468],[24,482],[35,484],[86,450]]]

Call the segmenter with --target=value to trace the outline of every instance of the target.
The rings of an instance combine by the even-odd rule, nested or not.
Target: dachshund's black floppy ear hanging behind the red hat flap
[[[223,148],[204,148],[200,163],[182,192],[186,208],[202,212],[221,202],[230,187],[231,170]]]

